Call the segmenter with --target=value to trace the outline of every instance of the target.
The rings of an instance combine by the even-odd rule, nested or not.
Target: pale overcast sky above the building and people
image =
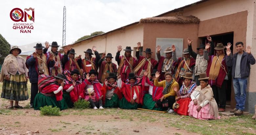
[[[68,45],[92,32],[108,32],[196,1],[199,0],[4,0],[0,4],[0,34],[11,45],[45,41],[57,41],[62,45],[63,6],[66,6]],[[12,28],[16,22],[11,20],[10,12],[16,7],[23,11],[34,8],[35,22],[31,33],[20,33]],[[31,22],[27,20],[27,23]]]

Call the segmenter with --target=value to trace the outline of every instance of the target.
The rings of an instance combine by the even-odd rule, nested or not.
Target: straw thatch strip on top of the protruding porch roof
[[[170,16],[170,17],[150,17],[140,19],[139,23],[199,23],[200,20],[195,16]]]

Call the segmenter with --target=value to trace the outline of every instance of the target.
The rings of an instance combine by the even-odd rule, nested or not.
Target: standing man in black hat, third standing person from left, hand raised
[[[48,48],[51,46],[51,51],[48,51]],[[53,59],[55,61],[55,64],[53,68],[49,68],[49,74],[51,76],[57,76],[58,74],[62,74],[63,69],[62,69],[62,63],[61,60],[63,58],[63,54],[58,53],[58,43],[57,42],[52,42],[52,45],[50,45],[47,41],[45,42],[45,48],[43,49],[43,53],[47,54],[47,56],[50,56],[51,54],[53,55]]]

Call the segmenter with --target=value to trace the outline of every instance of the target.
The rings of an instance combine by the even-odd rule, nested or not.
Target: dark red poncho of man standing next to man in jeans
[[[214,55],[211,55],[209,56],[209,61],[208,61],[208,66],[207,66],[207,69],[206,69],[206,74],[207,76],[209,76],[209,72],[210,72],[210,68],[211,68],[211,65],[212,65],[212,60],[213,60],[213,57]],[[226,55],[224,56],[221,64],[225,67],[225,70],[228,72],[228,69],[227,69],[227,66],[226,66]],[[219,61],[217,61],[219,62]],[[226,76],[226,72],[225,72],[224,69],[220,68],[220,72],[219,72],[219,75],[218,77],[216,78],[216,80],[209,80],[209,84],[212,86],[212,85],[216,85],[217,87],[221,88],[222,86],[222,83],[225,79],[225,76]]]

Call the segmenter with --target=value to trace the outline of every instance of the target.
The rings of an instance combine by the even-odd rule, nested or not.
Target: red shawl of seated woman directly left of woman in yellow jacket
[[[157,101],[163,96],[163,93],[162,93],[163,87],[154,86],[154,82],[149,81],[149,78],[145,76],[142,79],[143,96],[144,94],[148,93],[148,90],[149,90],[149,86],[145,86],[145,83],[148,83],[149,85],[153,86],[153,93],[152,93],[153,101]]]

